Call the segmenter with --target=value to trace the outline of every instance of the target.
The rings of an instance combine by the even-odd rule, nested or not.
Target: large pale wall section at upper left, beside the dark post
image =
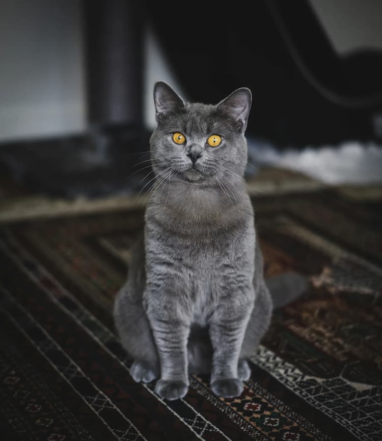
[[[85,128],[80,2],[0,0],[0,140]]]

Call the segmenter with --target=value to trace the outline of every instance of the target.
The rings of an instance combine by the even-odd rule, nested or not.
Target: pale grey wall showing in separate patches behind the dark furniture
[[[310,0],[340,53],[382,48],[382,0]],[[0,0],[0,141],[87,129],[80,0]],[[296,11],[297,12],[297,11]],[[146,32],[145,123],[156,80],[183,95]]]

